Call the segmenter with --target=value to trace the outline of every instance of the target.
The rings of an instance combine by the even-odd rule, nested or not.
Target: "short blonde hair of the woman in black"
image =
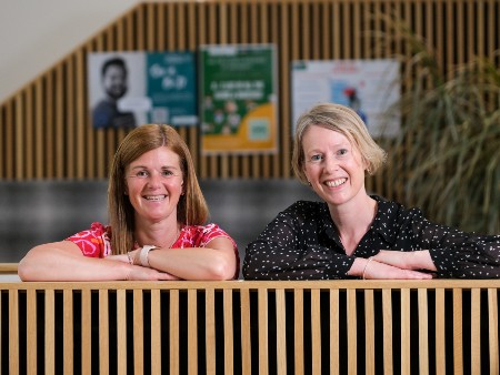
[[[367,164],[367,172],[369,174],[374,174],[386,162],[386,151],[371,138],[367,125],[354,110],[336,103],[319,103],[304,112],[296,125],[292,169],[296,176],[302,183],[308,183],[303,171],[304,154],[302,139],[306,130],[311,125],[323,126],[347,136],[349,142],[360,152],[363,162]]]

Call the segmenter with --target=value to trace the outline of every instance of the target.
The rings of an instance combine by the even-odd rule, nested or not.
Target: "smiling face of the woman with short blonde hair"
[[[341,205],[366,195],[366,165],[346,135],[310,125],[303,134],[302,148],[304,174],[314,192],[329,205]]]

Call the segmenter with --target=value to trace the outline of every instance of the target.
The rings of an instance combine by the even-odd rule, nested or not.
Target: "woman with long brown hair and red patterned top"
[[[78,214],[78,213],[76,213]],[[114,155],[109,225],[92,223],[21,260],[23,281],[230,280],[236,242],[209,210],[184,141],[169,125],[132,130]]]

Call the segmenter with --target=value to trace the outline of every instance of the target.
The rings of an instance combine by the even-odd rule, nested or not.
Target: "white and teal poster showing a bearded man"
[[[93,52],[89,107],[96,129],[198,123],[192,52]]]

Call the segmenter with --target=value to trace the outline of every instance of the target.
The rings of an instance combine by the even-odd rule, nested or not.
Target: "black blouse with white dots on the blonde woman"
[[[324,202],[298,201],[247,246],[246,280],[358,278],[356,257],[380,250],[429,250],[438,277],[500,278],[500,235],[477,235],[434,224],[418,209],[371,195],[378,211],[352,255],[347,255]]]

